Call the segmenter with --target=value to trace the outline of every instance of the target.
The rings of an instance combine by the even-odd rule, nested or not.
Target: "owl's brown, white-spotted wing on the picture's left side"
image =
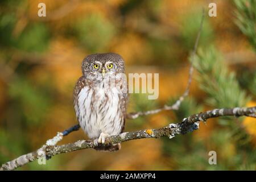
[[[76,111],[76,118],[79,118],[80,110],[79,110],[79,104],[78,104],[78,97],[79,93],[81,92],[82,88],[84,88],[88,83],[85,80],[85,77],[80,77],[79,80],[77,80],[74,92],[73,92],[73,98],[74,98],[74,107]]]

